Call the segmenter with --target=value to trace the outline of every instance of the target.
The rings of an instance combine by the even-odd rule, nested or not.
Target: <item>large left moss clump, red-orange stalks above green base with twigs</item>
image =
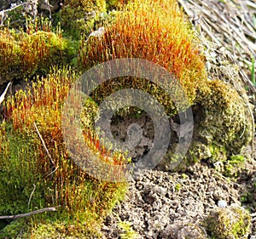
[[[22,238],[45,238],[38,236],[45,228],[49,231],[42,235],[47,238],[57,238],[56,230],[61,236],[70,230],[70,238],[81,238],[82,232],[97,235],[102,219],[125,195],[125,183],[95,179],[79,168],[67,151],[61,133],[61,109],[78,77],[68,69],[55,70],[9,97],[4,105],[5,119],[0,124],[0,214],[61,206],[56,214],[43,213],[28,219]],[[85,102],[84,107],[90,105]],[[90,130],[84,132],[84,140],[102,160],[111,156]],[[114,156],[116,161],[124,159]],[[65,225],[50,228],[49,219],[53,224],[62,220]]]

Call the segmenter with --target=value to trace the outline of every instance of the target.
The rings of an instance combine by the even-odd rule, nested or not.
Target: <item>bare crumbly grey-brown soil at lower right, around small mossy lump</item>
[[[186,173],[138,172],[126,200],[108,216],[102,231],[106,238],[121,238],[124,230],[119,221],[125,221],[137,232],[135,238],[207,238],[203,220],[224,200],[228,207],[240,205],[250,210],[252,233],[247,238],[255,239],[255,172],[255,160],[247,162],[236,182],[203,163],[189,167]]]

